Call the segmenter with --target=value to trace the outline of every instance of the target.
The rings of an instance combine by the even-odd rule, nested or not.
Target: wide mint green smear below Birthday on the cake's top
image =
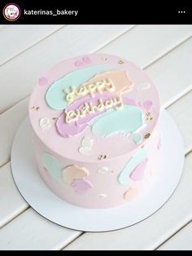
[[[117,132],[135,132],[142,125],[142,111],[137,107],[124,105],[122,109],[110,109],[95,121],[92,132],[104,137]]]

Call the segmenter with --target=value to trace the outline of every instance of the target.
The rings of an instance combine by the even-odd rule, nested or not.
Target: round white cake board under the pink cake
[[[162,157],[159,177],[151,191],[140,199],[108,209],[71,205],[51,192],[37,170],[28,117],[21,124],[11,151],[11,169],[17,188],[37,213],[63,227],[86,232],[105,232],[129,227],[154,214],[177,188],[184,164],[181,135],[172,117],[161,116]]]

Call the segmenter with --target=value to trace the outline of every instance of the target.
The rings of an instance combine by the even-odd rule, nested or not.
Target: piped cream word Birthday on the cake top
[[[85,102],[83,108],[70,110],[66,113],[65,121],[67,123],[71,123],[72,121],[77,121],[79,118],[85,117],[87,114],[94,114],[97,112],[103,112],[109,108],[119,109],[124,105],[123,99],[121,97],[117,97],[114,99],[107,99],[103,102],[103,99],[98,99],[98,105],[93,105],[91,102]]]

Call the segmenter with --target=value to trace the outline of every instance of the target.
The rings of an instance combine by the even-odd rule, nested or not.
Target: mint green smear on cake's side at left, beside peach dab
[[[57,182],[61,183],[61,166],[59,161],[49,153],[42,155],[42,165]]]

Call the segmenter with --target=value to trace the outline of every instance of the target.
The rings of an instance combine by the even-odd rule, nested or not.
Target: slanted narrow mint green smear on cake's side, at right
[[[117,178],[121,185],[127,185],[129,183],[129,174],[146,158],[146,155],[146,149],[142,148],[134,157],[131,157]]]

